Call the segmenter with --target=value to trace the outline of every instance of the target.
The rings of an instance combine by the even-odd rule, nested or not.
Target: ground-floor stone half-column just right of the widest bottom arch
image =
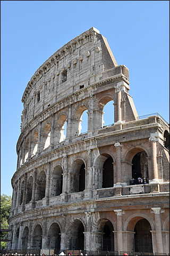
[[[164,210],[161,210],[160,207],[152,207],[151,213],[155,215],[155,234],[156,234],[156,246],[157,253],[163,253],[163,237],[162,237],[162,223],[161,223],[161,213]]]

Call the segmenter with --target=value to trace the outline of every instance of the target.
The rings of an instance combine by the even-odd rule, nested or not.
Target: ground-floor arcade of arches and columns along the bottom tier
[[[155,214],[160,213],[160,209],[152,208]],[[148,252],[160,251],[157,239],[160,239],[157,232],[158,223],[153,225],[153,219],[143,217],[143,214],[132,214],[128,222],[123,218],[125,211],[114,210],[109,213],[109,219],[99,218],[97,222],[82,222],[81,219],[73,221],[66,220],[68,226],[64,230],[64,222],[56,217],[56,221],[49,223],[49,220],[37,223],[34,227],[20,226],[16,232],[16,238],[12,241],[12,248],[25,249],[50,249],[58,253],[60,250],[86,250],[86,251],[131,251]],[[100,214],[99,214],[100,215]],[[101,216],[103,213],[101,213]],[[134,215],[137,215],[134,217]],[[111,220],[112,216],[112,220]],[[54,218],[55,219],[55,218]],[[61,223],[58,222],[60,219]],[[123,220],[124,219],[124,220]],[[88,231],[91,223],[93,230]],[[168,250],[169,221],[165,221],[167,231],[163,231],[166,236],[162,236],[162,246]],[[62,226],[63,225],[63,226]],[[95,226],[94,226],[95,225]],[[165,225],[163,225],[165,226]],[[121,228],[122,227],[122,228]],[[95,228],[95,229],[94,229]],[[47,231],[46,231],[46,230]],[[91,229],[91,228],[90,228]],[[160,233],[160,232],[159,232]],[[127,243],[128,241],[128,243]]]

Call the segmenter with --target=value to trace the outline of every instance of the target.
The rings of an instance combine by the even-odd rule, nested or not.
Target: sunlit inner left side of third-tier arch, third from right
[[[57,116],[57,122],[54,130],[55,143],[60,143],[63,140],[65,140],[64,125],[65,125],[65,122],[67,122],[67,120],[68,120],[67,114],[65,114],[64,112],[60,113],[60,115]]]

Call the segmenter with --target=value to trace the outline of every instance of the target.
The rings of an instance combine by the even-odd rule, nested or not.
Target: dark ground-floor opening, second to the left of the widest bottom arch
[[[80,220],[75,220],[70,232],[70,249],[84,250],[84,226]]]

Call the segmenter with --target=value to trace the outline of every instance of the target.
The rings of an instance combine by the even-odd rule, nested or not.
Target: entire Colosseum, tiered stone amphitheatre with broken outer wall
[[[129,91],[129,69],[94,27],[31,77],[11,181],[10,250],[169,255],[169,125],[158,113],[139,117]]]

